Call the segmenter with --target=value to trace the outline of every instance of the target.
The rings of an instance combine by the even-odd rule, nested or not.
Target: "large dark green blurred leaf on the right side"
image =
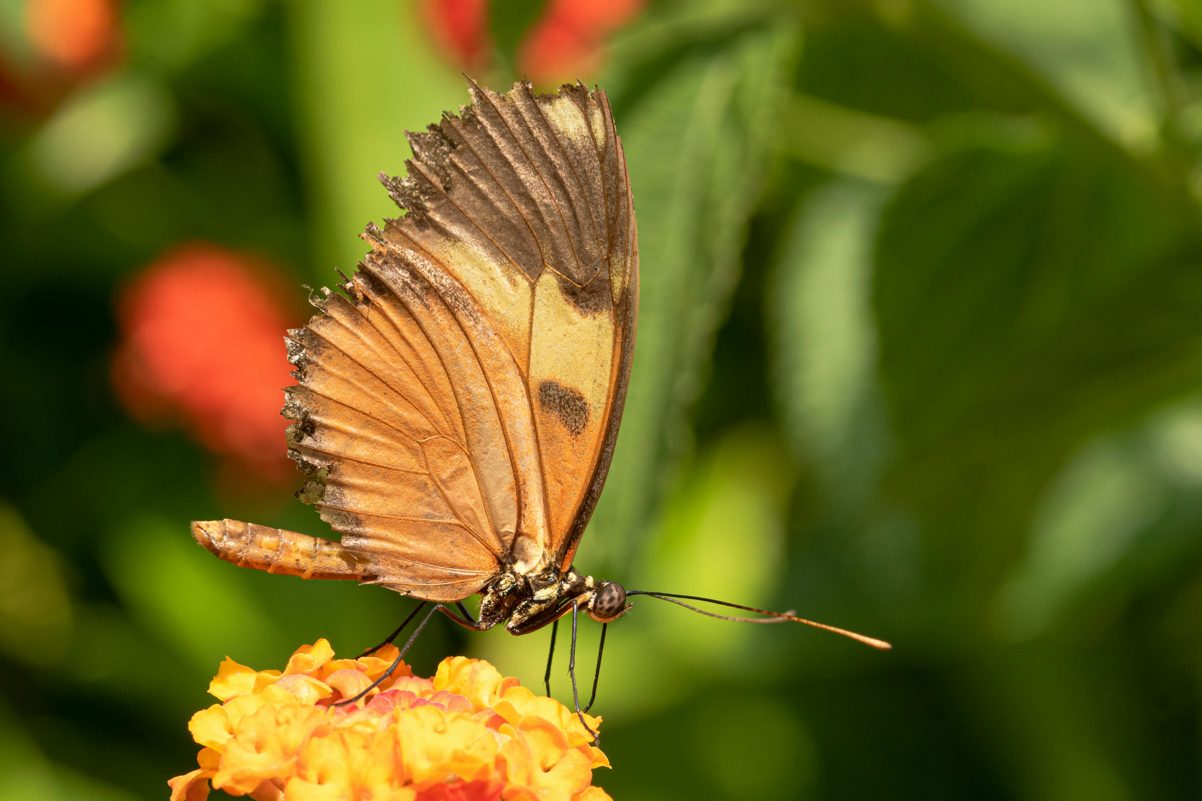
[[[1178,203],[1131,162],[1052,136],[950,155],[889,205],[874,305],[892,491],[972,596],[1072,448],[1197,385],[1200,255]]]

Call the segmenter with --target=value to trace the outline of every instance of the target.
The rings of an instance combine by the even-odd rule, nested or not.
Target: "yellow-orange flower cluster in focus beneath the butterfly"
[[[321,639],[282,673],[226,658],[209,683],[221,704],[188,725],[198,767],[168,782],[172,801],[203,801],[210,782],[256,801],[612,801],[591,784],[609,760],[581,719],[487,662],[448,657],[432,679],[401,663],[363,700],[334,706],[397,653],[335,659]]]

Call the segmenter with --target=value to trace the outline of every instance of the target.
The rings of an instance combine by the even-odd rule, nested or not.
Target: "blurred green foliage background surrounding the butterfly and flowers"
[[[0,796],[161,799],[222,657],[355,652],[412,604],[195,545],[192,519],[328,528],[299,477],[231,479],[123,411],[114,299],[206,241],[274,265],[299,318],[300,285],[395,216],[375,174],[466,101],[463,65],[406,0],[129,0],[55,70],[32,5],[0,4]],[[476,74],[501,88],[548,8],[459,5],[487,11]],[[1202,795],[1202,2],[635,11],[579,76],[625,143],[642,307],[576,564],[894,650],[639,600],[608,636],[595,783]],[[439,623],[413,663],[537,687],[546,646]]]

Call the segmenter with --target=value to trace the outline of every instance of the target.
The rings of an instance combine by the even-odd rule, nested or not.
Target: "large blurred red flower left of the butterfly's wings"
[[[182,422],[209,450],[266,479],[291,476],[280,417],[290,315],[269,268],[207,244],[148,267],[118,300],[113,387],[147,424]]]

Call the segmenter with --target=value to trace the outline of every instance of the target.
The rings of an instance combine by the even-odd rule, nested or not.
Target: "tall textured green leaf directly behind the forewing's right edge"
[[[639,327],[621,436],[582,545],[590,569],[630,564],[688,448],[689,406],[738,279],[786,100],[796,30],[776,24],[719,41],[626,98],[618,121],[638,214]]]

